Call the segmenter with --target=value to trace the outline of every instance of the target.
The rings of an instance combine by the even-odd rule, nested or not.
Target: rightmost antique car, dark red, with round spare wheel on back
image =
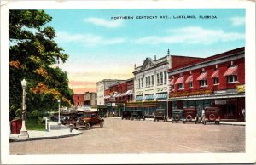
[[[207,124],[207,122],[215,122],[219,124],[220,121],[220,110],[218,107],[206,107],[205,114],[202,118],[202,123]]]

